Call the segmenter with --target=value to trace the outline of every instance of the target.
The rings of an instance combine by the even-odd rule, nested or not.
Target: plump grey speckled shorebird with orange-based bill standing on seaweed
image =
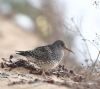
[[[52,44],[40,46],[32,50],[17,51],[16,54],[31,60],[38,68],[42,69],[42,75],[45,76],[45,72],[59,65],[64,57],[64,49],[73,53],[72,50],[66,47],[64,41],[56,40]]]

